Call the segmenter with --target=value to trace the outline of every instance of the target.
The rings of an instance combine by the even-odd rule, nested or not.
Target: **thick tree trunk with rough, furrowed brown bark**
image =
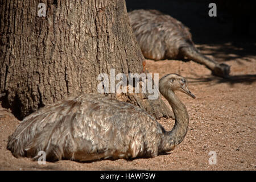
[[[38,15],[39,3],[46,16]],[[1,101],[18,119],[69,96],[97,93],[98,75],[112,68],[143,72],[124,0],[2,0],[0,24]],[[145,98],[122,100],[156,118],[171,116],[162,100]]]

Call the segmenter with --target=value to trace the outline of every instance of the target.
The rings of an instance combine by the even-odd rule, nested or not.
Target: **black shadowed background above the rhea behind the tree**
[[[210,2],[217,5],[217,17],[208,15]],[[171,15],[190,28],[196,44],[256,42],[255,0],[127,0],[126,6],[128,12],[155,9]]]

